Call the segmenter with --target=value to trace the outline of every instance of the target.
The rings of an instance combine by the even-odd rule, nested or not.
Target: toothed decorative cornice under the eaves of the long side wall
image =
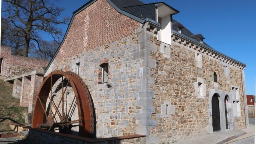
[[[176,33],[172,34],[172,41],[174,42],[178,42],[179,44],[182,44],[184,46],[187,46],[188,48],[192,48],[198,52],[202,52],[203,54],[206,54],[212,58],[215,58],[217,60],[220,60],[222,62],[225,62],[227,64],[230,64],[236,68],[239,68],[241,70],[244,70],[245,66],[243,64],[240,64],[226,56],[222,56],[220,54],[218,54],[217,52],[214,52],[213,50],[210,50],[209,48],[202,46],[200,44],[197,44],[191,40],[188,40]]]

